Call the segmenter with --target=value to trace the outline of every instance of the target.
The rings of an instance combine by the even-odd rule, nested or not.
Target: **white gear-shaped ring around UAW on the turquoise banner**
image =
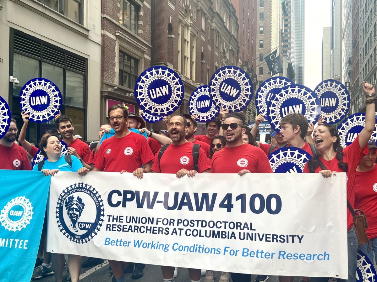
[[[17,222],[12,222],[9,219],[8,213],[10,209],[16,205],[23,207],[23,216]],[[2,209],[0,214],[0,223],[5,229],[9,231],[20,231],[30,223],[30,220],[33,218],[33,214],[33,207],[29,199],[27,199],[25,196],[15,197],[10,200]]]

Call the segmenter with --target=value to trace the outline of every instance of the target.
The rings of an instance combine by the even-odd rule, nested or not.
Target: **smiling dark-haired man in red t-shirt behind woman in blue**
[[[93,169],[93,156],[89,145],[75,138],[73,135],[74,126],[72,120],[67,115],[60,115],[55,119],[56,129],[63,137],[63,141],[68,145],[68,155],[77,157],[83,167]]]

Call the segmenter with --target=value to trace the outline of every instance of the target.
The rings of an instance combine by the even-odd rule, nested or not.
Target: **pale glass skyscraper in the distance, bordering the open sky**
[[[294,63],[296,83],[304,83],[305,2],[292,0],[294,30]]]

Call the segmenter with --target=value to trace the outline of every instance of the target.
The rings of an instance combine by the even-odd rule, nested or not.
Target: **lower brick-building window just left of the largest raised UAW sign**
[[[133,89],[138,74],[138,60],[119,51],[119,85]]]

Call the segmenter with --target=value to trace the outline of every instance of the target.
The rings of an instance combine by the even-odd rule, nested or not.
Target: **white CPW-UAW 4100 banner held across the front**
[[[347,278],[345,173],[59,172],[48,215],[49,252]]]

